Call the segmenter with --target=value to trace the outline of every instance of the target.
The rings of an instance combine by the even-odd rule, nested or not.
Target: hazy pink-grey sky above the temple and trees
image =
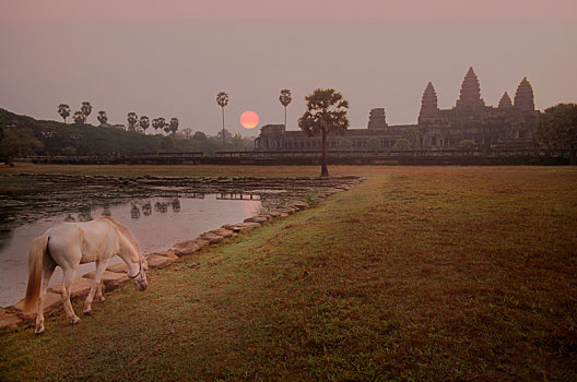
[[[543,109],[577,99],[576,21],[575,0],[0,0],[0,107],[58,119],[58,104],[90,100],[93,123],[136,111],[215,134],[220,91],[242,132],[245,110],[282,123],[281,88],[296,128],[305,95],[334,87],[353,128],[373,107],[415,123],[427,82],[452,107],[472,65],[488,105],[527,76]]]

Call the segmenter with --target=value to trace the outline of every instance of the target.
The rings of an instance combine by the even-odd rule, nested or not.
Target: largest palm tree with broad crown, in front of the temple
[[[349,129],[349,118],[346,118],[349,102],[333,88],[317,88],[311,95],[305,97],[305,100],[307,110],[298,119],[298,127],[308,136],[322,136],[320,176],[328,177],[327,134],[344,135],[346,133],[346,129]]]

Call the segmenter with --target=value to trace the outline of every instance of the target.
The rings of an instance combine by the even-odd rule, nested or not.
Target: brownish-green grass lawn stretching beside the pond
[[[1,334],[0,380],[577,379],[576,168],[329,171],[367,181]]]

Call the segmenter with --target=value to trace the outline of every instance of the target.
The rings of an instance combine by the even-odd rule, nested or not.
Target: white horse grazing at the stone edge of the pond
[[[80,319],[70,303],[70,288],[79,264],[96,262],[96,274],[84,301],[84,314],[92,313],[94,295],[104,301],[102,277],[108,261],[118,254],[128,265],[128,277],[139,290],[146,289],[146,262],[130,230],[110,217],[99,217],[86,223],[59,223],[32,242],[28,253],[28,286],[24,311],[31,311],[37,303],[36,334],[44,332],[43,299],[56,265],[63,271],[60,293],[70,322]]]

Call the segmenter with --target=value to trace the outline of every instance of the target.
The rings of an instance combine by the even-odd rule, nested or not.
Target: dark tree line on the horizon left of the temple
[[[174,133],[170,131],[168,135],[143,134],[136,129],[122,130],[111,124],[64,124],[36,120],[0,109],[0,162],[7,164],[27,155],[115,156],[190,152],[213,155],[222,148],[222,131],[211,136],[202,131],[193,132],[190,128]],[[224,140],[226,150],[247,151],[254,147],[254,138],[232,134],[227,130],[224,131]]]

